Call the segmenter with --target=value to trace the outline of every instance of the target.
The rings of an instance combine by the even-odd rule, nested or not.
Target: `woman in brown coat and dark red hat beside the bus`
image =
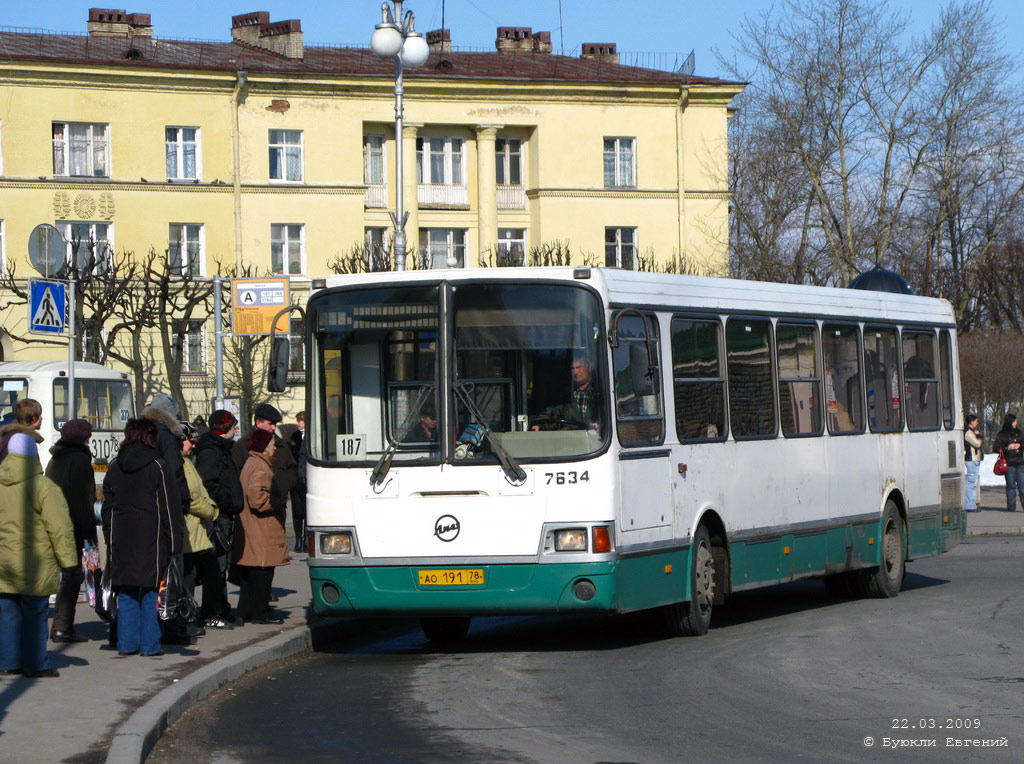
[[[273,568],[289,564],[285,524],[270,498],[275,450],[272,432],[253,430],[249,458],[242,468],[245,508],[240,517],[245,538],[237,564],[241,578],[238,618],[243,623],[284,623],[270,610]]]

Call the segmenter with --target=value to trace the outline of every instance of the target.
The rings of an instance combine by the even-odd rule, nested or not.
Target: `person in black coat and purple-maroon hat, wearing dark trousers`
[[[92,426],[86,420],[69,420],[60,430],[60,439],[50,449],[50,462],[46,465],[46,476],[60,487],[68,502],[79,560],[87,543],[96,545],[96,513],[92,506],[96,500],[96,483],[92,453],[89,451],[90,437]],[[62,572],[50,628],[52,641],[87,641],[75,631],[75,605],[84,581],[81,565],[69,567]]]

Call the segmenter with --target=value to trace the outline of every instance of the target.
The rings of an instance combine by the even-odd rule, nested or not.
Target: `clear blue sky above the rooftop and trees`
[[[895,9],[911,15],[912,26],[926,30],[936,18],[940,0],[891,0]],[[730,30],[744,14],[770,8],[771,0],[407,0],[416,13],[417,29],[441,26],[452,31],[456,46],[493,48],[498,27],[531,27],[551,32],[555,51],[565,52],[584,42],[614,42],[621,52],[696,53],[696,74],[722,73],[712,55],[715,46],[731,50]],[[33,0],[22,5],[0,0],[0,26],[32,27],[84,34],[88,8],[121,7],[119,0],[71,2]],[[993,0],[992,8],[1009,50],[1024,40],[1021,0]],[[307,43],[367,43],[380,19],[380,0],[136,0],[129,13],[150,13],[157,37],[230,39],[230,17],[266,10],[271,20],[299,18]],[[562,35],[559,27],[562,27]],[[564,43],[562,42],[564,38]]]

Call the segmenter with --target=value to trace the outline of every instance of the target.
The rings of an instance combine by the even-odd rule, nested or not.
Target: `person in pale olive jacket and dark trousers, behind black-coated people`
[[[198,582],[203,589],[203,604],[200,605],[200,623],[206,629],[230,629],[232,625],[221,613],[228,610],[227,598],[221,585],[220,565],[217,563],[217,553],[207,532],[210,523],[217,519],[220,510],[216,502],[210,498],[203,478],[193,461],[193,450],[199,437],[199,429],[189,422],[179,422],[181,425],[181,459],[185,472],[185,483],[191,501],[188,514],[185,515],[185,582],[195,592]]]

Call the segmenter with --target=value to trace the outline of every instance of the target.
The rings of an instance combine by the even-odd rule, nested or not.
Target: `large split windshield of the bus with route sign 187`
[[[445,290],[452,314],[442,320]],[[344,290],[310,302],[309,326],[313,459],[436,464],[445,442],[456,465],[497,464],[578,458],[607,439],[601,311],[586,289]],[[447,390],[441,347],[454,366]],[[451,421],[441,421],[444,409]]]

